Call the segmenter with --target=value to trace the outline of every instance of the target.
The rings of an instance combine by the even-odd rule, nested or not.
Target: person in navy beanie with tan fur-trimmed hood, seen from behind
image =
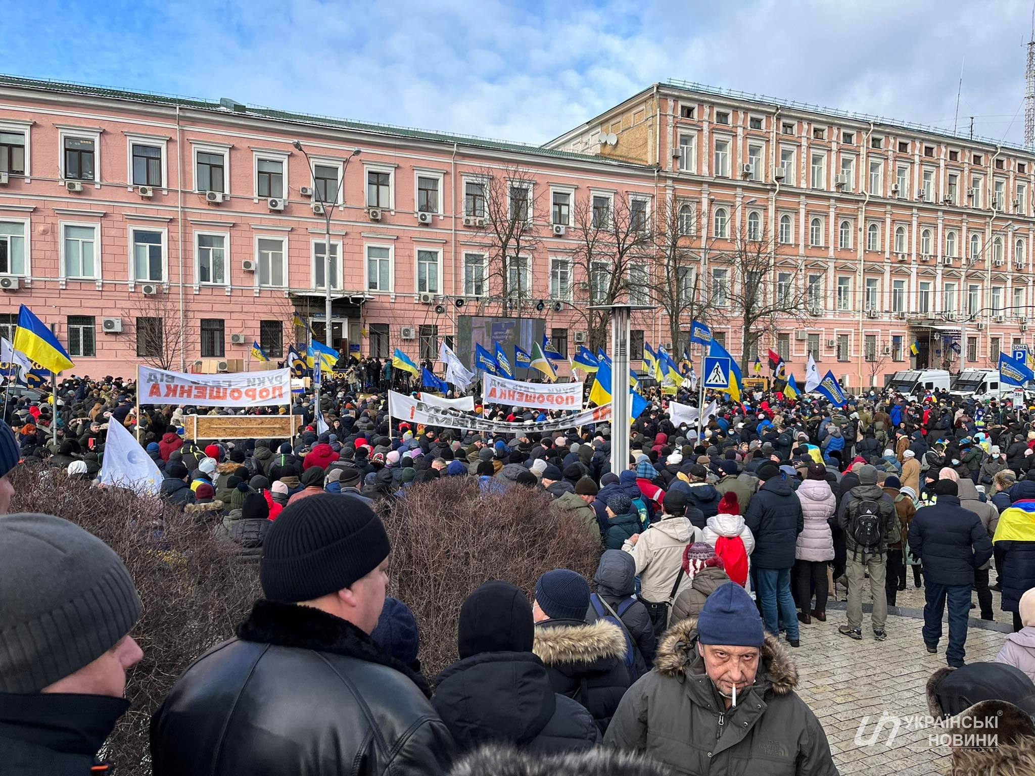
[[[589,585],[576,572],[554,569],[535,584],[532,651],[546,666],[554,692],[574,698],[602,735],[631,682],[625,634],[607,620],[586,624]]]

